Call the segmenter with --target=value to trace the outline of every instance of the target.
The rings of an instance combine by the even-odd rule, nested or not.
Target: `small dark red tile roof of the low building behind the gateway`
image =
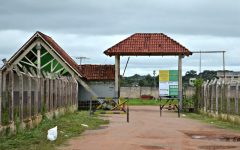
[[[87,80],[114,80],[114,65],[81,65],[80,72]]]

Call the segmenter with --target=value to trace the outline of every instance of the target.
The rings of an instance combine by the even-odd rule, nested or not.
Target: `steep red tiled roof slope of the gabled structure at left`
[[[48,35],[43,34],[37,31],[39,35],[48,42],[54,48],[54,50],[71,66],[73,67],[80,75],[82,73],[78,69],[78,64]]]

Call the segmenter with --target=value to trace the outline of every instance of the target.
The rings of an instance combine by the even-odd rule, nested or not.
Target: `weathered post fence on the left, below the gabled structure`
[[[76,106],[78,84],[72,77],[41,73],[17,67],[0,71],[0,126],[32,120],[43,113]]]

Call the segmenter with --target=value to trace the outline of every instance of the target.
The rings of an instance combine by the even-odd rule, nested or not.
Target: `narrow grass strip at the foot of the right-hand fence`
[[[236,123],[223,121],[218,118],[209,117],[204,114],[196,114],[196,113],[186,113],[186,117],[191,119],[196,119],[201,122],[211,124],[215,127],[221,128],[221,129],[231,129],[235,131],[240,131],[240,126]]]

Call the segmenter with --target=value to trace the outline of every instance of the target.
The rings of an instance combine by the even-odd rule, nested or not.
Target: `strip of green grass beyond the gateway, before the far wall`
[[[159,106],[160,104],[163,105],[166,103],[166,100],[154,100],[154,99],[129,99],[128,100],[128,105],[150,105],[150,106]],[[169,101],[166,105],[168,104],[178,104],[177,100],[174,101]]]

